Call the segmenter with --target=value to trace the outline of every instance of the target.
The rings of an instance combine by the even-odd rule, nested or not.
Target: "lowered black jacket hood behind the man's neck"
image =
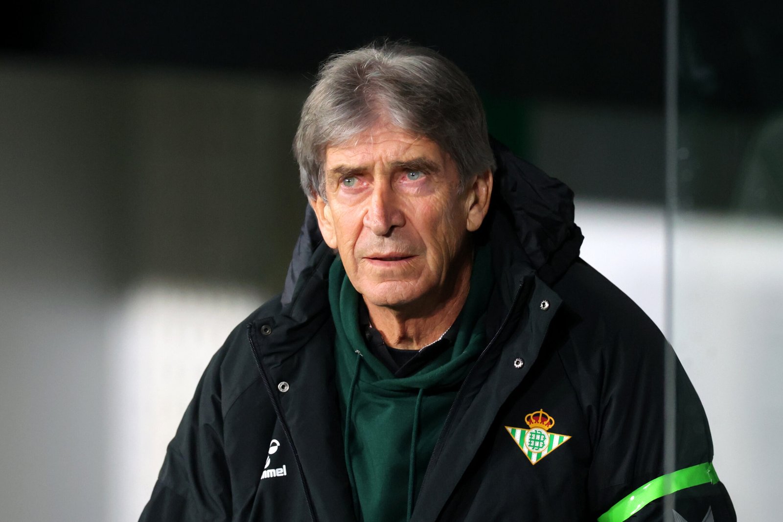
[[[535,273],[554,283],[579,257],[583,236],[574,222],[572,190],[539,168],[516,157],[492,139],[497,162],[489,214],[478,231],[478,241],[493,244],[493,267],[518,279]],[[313,253],[323,247],[316,214],[308,205],[305,221],[291,257],[283,306],[289,304]]]

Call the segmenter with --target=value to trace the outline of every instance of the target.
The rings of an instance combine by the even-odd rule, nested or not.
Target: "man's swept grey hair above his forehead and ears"
[[[309,198],[326,199],[327,146],[348,142],[382,118],[437,143],[455,162],[460,187],[495,169],[484,108],[467,76],[431,49],[382,42],[331,56],[319,69],[294,138]]]

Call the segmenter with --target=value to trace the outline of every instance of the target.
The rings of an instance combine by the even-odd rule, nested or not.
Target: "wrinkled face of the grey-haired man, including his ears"
[[[470,254],[467,233],[489,207],[491,173],[460,192],[456,165],[435,142],[377,124],[327,147],[324,175],[327,201],[311,203],[364,299],[399,309],[448,300]]]

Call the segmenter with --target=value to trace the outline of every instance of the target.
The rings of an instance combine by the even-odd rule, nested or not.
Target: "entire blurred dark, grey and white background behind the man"
[[[280,292],[318,63],[453,59],[666,333],[740,520],[783,431],[779,2],[34,0],[0,31],[0,519],[137,520],[200,373]],[[764,445],[756,442],[767,437]]]

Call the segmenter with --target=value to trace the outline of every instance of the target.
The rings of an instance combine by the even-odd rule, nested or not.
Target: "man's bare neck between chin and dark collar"
[[[413,307],[392,309],[364,300],[370,324],[381,333],[389,347],[420,350],[434,343],[460,315],[471,287],[472,267],[472,256],[468,256],[467,262],[454,276],[453,291],[433,299],[435,304],[429,306],[419,304],[413,310]]]

